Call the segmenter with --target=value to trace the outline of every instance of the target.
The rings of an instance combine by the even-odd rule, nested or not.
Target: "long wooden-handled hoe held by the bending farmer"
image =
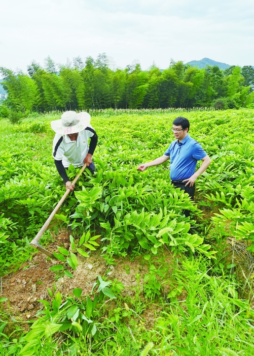
[[[84,172],[86,168],[86,163],[84,164],[84,166],[81,168],[81,171],[79,172],[79,174],[77,174],[77,176],[75,177],[75,180],[72,182],[72,184],[75,184],[79,177],[81,176],[81,174]],[[46,250],[44,247],[42,247],[39,243],[42,235],[44,234],[45,230],[47,229],[47,227],[49,226],[51,220],[54,218],[54,216],[56,215],[59,207],[62,205],[62,203],[64,202],[64,200],[66,199],[67,195],[69,194],[70,190],[67,189],[66,192],[64,193],[64,195],[62,196],[61,200],[59,201],[59,203],[56,205],[55,209],[53,210],[53,212],[50,214],[50,216],[48,217],[47,221],[45,222],[45,224],[43,225],[43,227],[41,228],[41,230],[38,232],[38,234],[35,236],[35,238],[30,242],[30,246],[32,246],[35,249],[38,249],[39,251],[41,251],[42,253],[45,253],[45,255],[51,257],[51,258],[55,258],[55,256],[53,255],[53,253],[51,253],[50,251]]]

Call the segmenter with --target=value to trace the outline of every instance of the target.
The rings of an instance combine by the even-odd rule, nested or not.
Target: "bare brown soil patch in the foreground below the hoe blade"
[[[67,235],[62,233],[58,236],[58,239],[67,248]],[[53,251],[56,250],[56,246],[52,244],[47,246],[47,249]],[[129,257],[118,258],[116,259],[117,264],[110,266],[100,256],[99,251],[91,254],[90,258],[80,255],[77,257],[79,261],[77,270],[70,271],[74,278],[68,278],[64,275],[57,279],[56,274],[49,271],[49,268],[62,262],[49,259],[40,252],[34,253],[31,261],[23,263],[15,274],[2,278],[1,296],[8,298],[4,305],[10,315],[24,321],[34,318],[38,310],[43,308],[39,300],[51,300],[48,288],[53,292],[59,290],[64,295],[71,295],[75,288],[81,288],[83,296],[90,294],[97,276],[105,276],[107,280],[114,281],[116,279],[121,282],[125,287],[121,293],[123,298],[125,296],[133,300],[139,298],[145,302],[142,292],[143,278],[144,275],[149,273],[149,264],[142,256],[134,260],[130,260]],[[169,269],[172,259],[172,255],[165,251],[163,260],[164,263],[169,265]],[[167,289],[166,285],[165,289]],[[160,307],[155,308],[153,306],[153,308],[150,308],[149,301],[144,304],[146,304],[147,309],[143,311],[142,317],[145,319],[146,327],[150,328],[154,324],[156,313],[158,315]]]

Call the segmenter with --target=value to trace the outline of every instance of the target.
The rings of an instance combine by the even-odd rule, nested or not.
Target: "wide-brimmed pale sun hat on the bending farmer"
[[[60,135],[77,133],[84,130],[90,124],[91,116],[88,112],[65,111],[60,120],[51,121],[53,131]]]

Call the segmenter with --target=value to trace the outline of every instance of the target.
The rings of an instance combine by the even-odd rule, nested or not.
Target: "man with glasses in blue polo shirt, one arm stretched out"
[[[190,122],[187,118],[179,116],[173,121],[172,131],[176,140],[170,143],[163,156],[154,161],[143,163],[137,169],[145,170],[148,167],[158,166],[170,158],[170,179],[176,188],[188,193],[194,200],[195,181],[211,163],[209,156],[200,143],[189,135]],[[202,160],[200,168],[195,172],[197,161]],[[190,216],[190,211],[185,211]]]

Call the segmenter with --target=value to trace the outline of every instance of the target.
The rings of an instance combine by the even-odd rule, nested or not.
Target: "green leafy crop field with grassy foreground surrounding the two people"
[[[137,171],[165,152],[179,115],[212,159],[196,181],[194,203],[170,184],[167,164]],[[96,173],[83,174],[41,239],[57,262],[40,271],[53,273],[54,283],[32,317],[14,313],[6,286],[36,264],[40,253],[29,241],[65,190],[50,129],[60,112],[30,114],[17,125],[0,121],[0,354],[252,354],[254,109],[106,109],[91,116]],[[77,172],[69,169],[70,180]],[[57,237],[62,231],[67,245]],[[89,293],[57,287],[92,258],[106,272]],[[123,263],[126,280],[130,265],[141,265],[132,287],[108,273]]]

